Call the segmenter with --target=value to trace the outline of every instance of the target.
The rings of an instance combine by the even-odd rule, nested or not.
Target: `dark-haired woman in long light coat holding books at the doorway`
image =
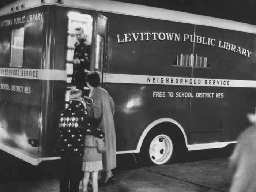
[[[105,132],[107,151],[102,154],[103,171],[106,171],[104,184],[114,183],[112,169],[116,167],[116,132],[114,126],[114,101],[108,91],[99,87],[100,78],[97,72],[89,72],[86,77],[90,88],[89,97],[93,99],[90,114],[98,119],[99,128]],[[100,174],[99,174],[100,175]]]

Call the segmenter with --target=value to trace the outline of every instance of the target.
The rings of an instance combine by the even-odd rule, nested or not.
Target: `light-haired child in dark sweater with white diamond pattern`
[[[90,125],[88,112],[82,102],[82,91],[72,89],[69,97],[70,105],[61,113],[57,131],[57,147],[61,153],[60,192],[79,191],[79,182],[83,177],[84,133]]]

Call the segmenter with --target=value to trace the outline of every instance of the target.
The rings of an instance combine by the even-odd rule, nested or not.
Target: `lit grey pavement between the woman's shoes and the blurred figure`
[[[227,158],[221,158],[122,171],[113,186],[101,191],[227,191],[227,167]]]

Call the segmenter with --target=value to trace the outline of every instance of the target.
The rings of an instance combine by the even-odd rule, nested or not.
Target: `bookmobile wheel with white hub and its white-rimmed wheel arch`
[[[168,162],[176,162],[184,154],[186,144],[187,144],[187,140],[186,140],[187,138],[186,138],[184,129],[176,121],[174,121],[173,123],[171,122],[171,119],[166,118],[165,120],[169,120],[169,121],[160,121],[160,122],[154,121],[153,123],[150,124],[153,126],[148,125],[148,127],[144,130],[140,138],[140,140],[142,140],[143,138],[143,142],[140,143],[141,148],[138,154],[139,159],[143,159],[142,161],[143,163],[148,163],[149,165],[151,164],[158,165],[158,163],[161,164],[161,163],[168,163]],[[169,136],[169,138],[164,135]],[[157,145],[157,142],[155,141],[156,137],[159,137],[157,138],[157,141],[158,139],[160,141],[160,138],[165,138],[166,141],[164,142],[165,144],[163,145],[162,149],[158,147],[154,149],[154,145]],[[154,144],[153,144],[153,148],[151,148],[152,147],[151,144],[153,140],[154,140],[153,142]],[[170,142],[172,142],[172,144],[168,144]],[[159,145],[159,146],[162,147],[162,145]],[[171,147],[165,148],[166,146],[171,146]],[[162,153],[160,149],[162,150]],[[169,151],[169,152],[164,152],[164,151]],[[155,154],[157,156],[155,156]],[[163,156],[161,156],[160,154],[161,155],[163,154]],[[154,161],[155,159],[153,157],[156,157],[157,159],[156,162]]]

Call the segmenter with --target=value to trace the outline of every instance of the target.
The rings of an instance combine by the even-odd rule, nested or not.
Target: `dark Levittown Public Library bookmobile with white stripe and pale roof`
[[[74,29],[113,97],[117,154],[161,165],[236,143],[256,106],[256,26],[108,0],[19,0],[0,9],[0,149],[59,159]]]

